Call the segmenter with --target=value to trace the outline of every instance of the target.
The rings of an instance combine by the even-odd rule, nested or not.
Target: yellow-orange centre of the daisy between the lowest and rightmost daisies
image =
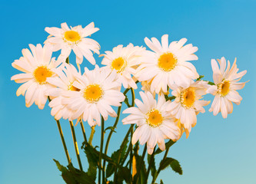
[[[195,101],[195,93],[192,87],[188,87],[188,89],[181,92],[181,104],[184,107],[192,107]]]

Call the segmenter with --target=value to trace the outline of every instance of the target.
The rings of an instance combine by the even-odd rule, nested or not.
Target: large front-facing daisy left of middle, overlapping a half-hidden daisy
[[[120,92],[120,84],[116,81],[115,72],[102,70],[95,65],[95,70],[85,67],[85,74],[76,76],[72,84],[78,90],[63,93],[62,104],[75,111],[69,120],[82,119],[90,126],[101,125],[101,116],[108,120],[108,115],[117,117],[111,106],[119,107],[125,100]]]

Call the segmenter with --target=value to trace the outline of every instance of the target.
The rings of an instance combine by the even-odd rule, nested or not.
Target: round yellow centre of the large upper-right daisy
[[[177,59],[171,52],[161,54],[160,58],[158,59],[158,67],[160,67],[163,71],[171,71],[175,68],[176,64]]]

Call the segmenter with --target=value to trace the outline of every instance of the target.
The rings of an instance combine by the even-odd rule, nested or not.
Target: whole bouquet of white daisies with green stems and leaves
[[[167,167],[182,174],[178,160],[168,157],[168,150],[184,132],[188,138],[198,113],[204,113],[204,106],[210,104],[202,100],[204,95],[214,95],[209,110],[214,116],[221,112],[226,118],[232,113],[233,103],[241,103],[237,90],[244,87],[245,82],[239,81],[246,71],[238,72],[236,60],[231,65],[225,58],[212,59],[213,82],[204,81],[204,76],[190,62],[198,60],[194,54],[198,48],[185,44],[186,38],[171,43],[168,35],[163,35],[161,42],[157,38],[145,38],[149,49],[120,44],[100,54],[98,42],[88,38],[99,30],[93,22],[85,28],[81,25],[69,28],[66,23],[61,27],[45,28],[50,35],[43,46],[29,44],[30,50],[22,50],[23,56],[12,66],[23,73],[12,76],[11,80],[22,84],[16,94],[25,96],[26,107],[35,103],[43,109],[48,101],[52,108],[68,166],[57,160],[55,163],[68,184],[91,184],[97,180],[108,184],[154,184],[161,170]],[[52,58],[52,53],[60,50],[58,58]],[[69,62],[71,51],[76,57],[74,65]],[[96,64],[95,53],[103,57],[102,67]],[[94,70],[81,67],[84,58],[95,65]],[[113,107],[118,107],[117,111]],[[128,116],[120,120],[121,113]],[[108,123],[108,116],[115,117],[115,123]],[[71,163],[61,119],[70,123],[78,169]],[[80,124],[84,136],[81,149],[88,159],[87,171],[81,163],[73,121]],[[122,126],[130,126],[121,145],[114,143],[116,151],[110,154],[111,136],[117,133],[120,121]],[[86,136],[86,126],[91,126],[90,136]],[[92,145],[95,126],[101,126],[98,146]],[[161,152],[165,152],[164,156],[156,164],[155,156]]]

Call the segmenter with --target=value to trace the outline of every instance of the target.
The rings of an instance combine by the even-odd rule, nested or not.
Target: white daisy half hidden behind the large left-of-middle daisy
[[[56,120],[59,120],[62,117],[66,120],[75,113],[75,111],[68,109],[67,105],[62,104],[62,94],[68,90],[79,91],[78,88],[73,86],[73,83],[76,81],[75,76],[81,75],[72,64],[64,63],[62,66],[65,67],[58,67],[55,70],[55,74],[57,74],[58,77],[48,78],[46,80],[49,84],[55,86],[55,88],[46,91],[46,93],[52,98],[52,101],[49,103],[49,107],[52,107],[51,114]]]

